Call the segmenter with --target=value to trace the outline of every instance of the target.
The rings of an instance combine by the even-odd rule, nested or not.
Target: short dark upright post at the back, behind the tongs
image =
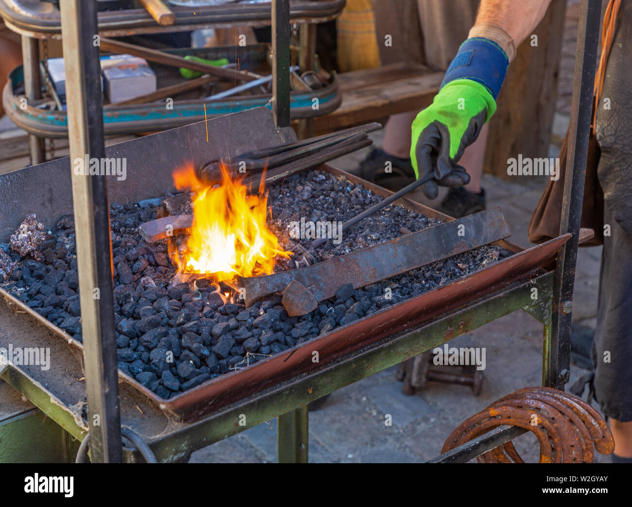
[[[272,113],[289,126],[289,0],[272,0]]]

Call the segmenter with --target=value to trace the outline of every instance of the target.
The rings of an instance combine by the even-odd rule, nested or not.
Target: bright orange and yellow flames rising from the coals
[[[270,274],[277,257],[289,257],[265,221],[262,189],[248,195],[243,178],[233,180],[223,166],[222,183],[213,187],[202,185],[190,167],[173,176],[176,188],[194,192],[191,235],[181,255],[171,252],[179,271],[230,282],[236,276]]]

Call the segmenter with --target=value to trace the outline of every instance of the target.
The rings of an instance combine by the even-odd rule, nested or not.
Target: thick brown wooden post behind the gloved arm
[[[537,40],[529,36],[518,47],[490,120],[485,173],[506,179],[507,159],[549,156],[565,15],[566,0],[553,0]]]

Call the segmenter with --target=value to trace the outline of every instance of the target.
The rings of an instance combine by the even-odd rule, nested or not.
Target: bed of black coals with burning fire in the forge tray
[[[339,243],[313,249],[309,235],[291,237],[293,223],[306,216],[313,222],[346,221],[382,199],[365,188],[367,183],[333,169],[304,171],[254,195],[246,195],[245,186],[229,177],[225,186],[200,187],[177,169],[174,180],[180,190],[197,191],[112,202],[110,209],[118,367],[162,400],[327,336],[514,253],[487,244],[509,235],[498,210],[488,219],[500,223],[500,230],[482,217],[467,219],[471,233],[465,241],[456,222],[402,204],[368,217]],[[140,233],[155,219],[178,221],[191,209],[195,219],[190,228],[149,242]],[[81,342],[73,223],[73,216],[61,216],[44,231],[29,214],[4,245],[10,262],[4,263],[0,286]],[[403,239],[394,243],[395,238]],[[386,255],[373,253],[381,243],[393,249]],[[305,252],[315,266],[298,268]],[[356,258],[358,252],[375,257]],[[381,268],[379,257],[386,261]],[[301,276],[310,269],[317,271]],[[360,276],[362,270],[371,274]],[[297,295],[282,298],[287,277],[296,276],[320,303],[309,312],[292,311]],[[267,291],[252,284],[279,277],[281,283]]]

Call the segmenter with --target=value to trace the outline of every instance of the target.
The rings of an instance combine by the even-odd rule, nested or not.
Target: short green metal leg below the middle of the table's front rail
[[[279,463],[307,463],[307,405],[277,417],[277,460]]]

